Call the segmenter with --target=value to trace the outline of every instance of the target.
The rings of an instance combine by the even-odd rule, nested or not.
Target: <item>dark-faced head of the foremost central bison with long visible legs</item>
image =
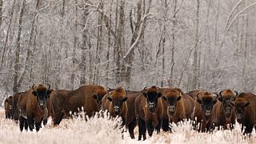
[[[154,113],[155,108],[158,106],[158,98],[162,96],[157,86],[151,86],[146,90],[146,87],[142,91],[142,94],[146,98],[147,106],[151,113]]]

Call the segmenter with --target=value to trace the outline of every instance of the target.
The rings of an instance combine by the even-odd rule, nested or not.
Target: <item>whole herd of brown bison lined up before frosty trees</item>
[[[97,85],[81,86],[77,90],[53,90],[50,85],[33,85],[30,90],[6,98],[6,118],[14,119],[19,128],[38,131],[42,122],[51,117],[54,126],[62,118],[83,110],[88,117],[100,110],[107,110],[112,117],[122,118],[130,138],[138,125],[138,140],[172,131],[170,123],[192,120],[194,130],[211,132],[215,128],[232,130],[237,120],[244,134],[250,134],[256,122],[256,96],[234,90],[211,93],[206,90],[191,90],[183,93],[177,87],[147,86],[140,91],[116,89]]]

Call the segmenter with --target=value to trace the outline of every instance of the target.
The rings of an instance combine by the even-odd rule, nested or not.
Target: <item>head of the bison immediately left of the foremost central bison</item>
[[[114,109],[114,116],[118,116],[121,114],[121,109],[123,102],[126,102],[126,91],[122,89],[122,87],[118,87],[114,90],[107,99],[112,102],[112,106]]]

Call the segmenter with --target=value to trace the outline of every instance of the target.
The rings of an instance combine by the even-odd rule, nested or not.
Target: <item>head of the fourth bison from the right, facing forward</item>
[[[182,99],[182,93],[177,90],[171,90],[162,95],[162,99],[166,101],[168,113],[174,115],[176,111],[177,102]]]

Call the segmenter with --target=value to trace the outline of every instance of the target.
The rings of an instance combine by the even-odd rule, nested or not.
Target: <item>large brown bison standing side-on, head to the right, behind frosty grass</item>
[[[50,94],[51,113],[54,125],[58,125],[64,115],[70,116],[70,111],[79,110],[91,117],[101,109],[102,98],[106,94],[103,86],[86,85],[77,90],[54,90]]]

